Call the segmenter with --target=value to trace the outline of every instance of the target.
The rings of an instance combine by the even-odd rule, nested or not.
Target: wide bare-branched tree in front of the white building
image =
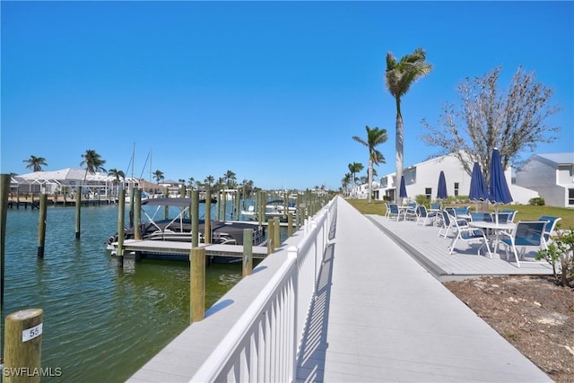
[[[438,127],[422,120],[426,127],[422,141],[442,148],[439,155],[457,156],[468,174],[478,161],[487,183],[494,148],[499,149],[503,169],[507,169],[520,152],[533,152],[537,143],[552,143],[556,139],[552,134],[560,129],[546,123],[546,118],[560,110],[549,104],[553,90],[536,82],[534,72],[519,66],[504,94],[498,86],[501,69],[498,66],[483,77],[467,77],[460,83],[460,105],[443,106]]]

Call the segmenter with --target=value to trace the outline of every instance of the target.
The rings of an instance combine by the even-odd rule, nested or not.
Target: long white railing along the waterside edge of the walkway
[[[336,197],[304,223],[302,238],[288,246],[283,264],[191,381],[296,380],[300,342],[335,208]]]

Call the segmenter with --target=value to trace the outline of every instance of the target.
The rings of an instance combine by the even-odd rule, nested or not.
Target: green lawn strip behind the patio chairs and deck
[[[385,213],[385,203],[383,201],[373,200],[370,204],[366,199],[347,199],[349,204],[355,207],[363,214],[379,214]],[[471,209],[474,209],[474,204],[470,204]],[[492,210],[492,206],[490,206]],[[504,205],[503,209],[517,210],[518,213],[514,219],[517,221],[535,221],[542,215],[549,215],[552,217],[561,217],[558,225],[562,229],[574,228],[574,210],[564,207],[552,206],[533,206],[533,205]]]

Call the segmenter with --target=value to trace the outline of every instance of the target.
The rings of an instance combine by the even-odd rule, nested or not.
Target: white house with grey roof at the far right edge
[[[574,207],[574,152],[533,154],[516,178],[517,185],[536,190],[546,205]]]

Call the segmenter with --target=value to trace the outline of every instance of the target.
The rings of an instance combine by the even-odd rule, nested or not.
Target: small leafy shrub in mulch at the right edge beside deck
[[[540,259],[552,265],[556,284],[570,286],[574,282],[574,231],[557,231],[548,248],[536,254],[536,260]]]

